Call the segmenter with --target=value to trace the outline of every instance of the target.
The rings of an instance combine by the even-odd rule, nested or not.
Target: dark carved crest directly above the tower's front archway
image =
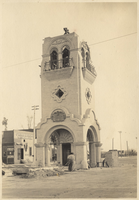
[[[66,114],[63,110],[55,110],[51,114],[51,119],[53,122],[62,122],[66,119]]]

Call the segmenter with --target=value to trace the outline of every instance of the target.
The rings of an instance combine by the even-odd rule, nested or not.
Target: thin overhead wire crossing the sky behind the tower
[[[101,42],[97,42],[97,43],[94,43],[94,44],[90,44],[90,45],[88,45],[88,46],[92,46],[92,45],[96,45],[96,44],[108,42],[108,41],[111,41],[111,40],[116,40],[116,39],[119,39],[119,38],[122,38],[122,37],[127,37],[127,36],[129,36],[129,35],[136,34],[136,33],[137,33],[137,32],[130,33],[130,34],[127,34],[127,35],[122,35],[122,36],[115,37],[115,38],[111,38],[111,39],[108,39],[108,40],[103,40],[103,41],[101,41]],[[75,49],[72,49],[72,50],[75,50]],[[24,64],[24,63],[33,62],[33,61],[35,61],[35,60],[40,60],[40,59],[41,59],[41,58],[37,58],[37,59],[34,59],[34,60],[29,60],[29,61],[26,61],[26,62],[14,64],[14,65],[9,65],[9,66],[3,67],[3,69],[8,68],[8,67],[14,67],[14,66],[17,66],[17,65],[22,65],[22,64]]]

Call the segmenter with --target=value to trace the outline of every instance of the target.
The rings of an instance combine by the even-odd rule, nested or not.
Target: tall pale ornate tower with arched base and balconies
[[[100,127],[95,117],[93,82],[96,71],[90,49],[76,33],[47,37],[41,63],[42,119],[37,125],[36,162],[50,166],[75,154],[76,168],[100,162]],[[52,142],[52,138],[54,141]]]

